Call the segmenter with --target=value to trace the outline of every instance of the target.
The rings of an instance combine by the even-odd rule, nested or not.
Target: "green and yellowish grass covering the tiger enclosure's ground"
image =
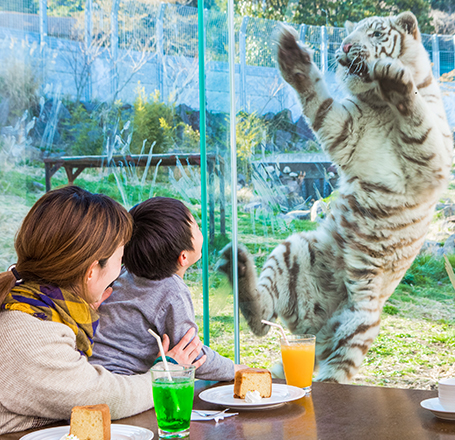
[[[134,171],[134,170],[133,170]],[[158,173],[152,195],[179,198],[169,185],[168,171]],[[147,186],[140,185],[142,174],[113,174],[86,170],[76,183],[92,192],[105,193],[128,208],[150,195],[153,176]],[[16,260],[14,235],[33,203],[44,193],[34,182],[44,185],[44,169],[20,165],[0,168],[0,267]],[[52,179],[53,187],[66,184],[64,170]],[[123,194],[119,186],[124,189]],[[227,197],[227,200],[228,197]],[[192,199],[193,212],[201,214],[200,202]],[[231,237],[231,212],[227,207],[225,237],[219,234],[209,246],[210,345],[221,355],[234,359],[233,297],[228,281],[215,271],[219,251]],[[254,254],[260,268],[271,250],[292,233],[313,230],[309,221],[286,223],[273,210],[254,215],[238,211],[239,241]],[[217,222],[219,213],[216,212]],[[218,223],[216,225],[218,228]],[[455,256],[449,257],[455,267]],[[186,275],[194,301],[196,320],[203,334],[202,265],[191,267]],[[455,291],[450,284],[442,259],[418,256],[407,271],[395,293],[387,301],[382,314],[379,336],[368,352],[353,383],[405,388],[434,388],[438,379],[455,375]],[[253,367],[270,368],[280,359],[276,331],[258,338],[240,317],[241,362]]]

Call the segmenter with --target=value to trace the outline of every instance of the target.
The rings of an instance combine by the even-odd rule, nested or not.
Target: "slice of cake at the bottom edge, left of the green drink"
[[[79,440],[111,440],[109,406],[75,406],[71,411],[70,434]]]

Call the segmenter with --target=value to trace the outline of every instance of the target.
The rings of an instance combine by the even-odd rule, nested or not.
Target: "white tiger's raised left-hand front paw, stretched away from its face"
[[[298,41],[297,32],[283,25],[277,38],[278,65],[284,80],[299,93],[311,85],[312,52]]]

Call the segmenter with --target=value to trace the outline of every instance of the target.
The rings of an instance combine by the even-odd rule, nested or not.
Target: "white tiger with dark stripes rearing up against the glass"
[[[256,335],[278,316],[317,335],[320,381],[346,382],[379,332],[384,302],[419,252],[444,189],[453,140],[415,16],[359,22],[337,51],[350,94],[327,91],[310,51],[283,27],[278,63],[338,165],[339,196],[316,231],[294,234],[259,279],[239,250],[240,308]],[[231,277],[231,249],[220,269]]]

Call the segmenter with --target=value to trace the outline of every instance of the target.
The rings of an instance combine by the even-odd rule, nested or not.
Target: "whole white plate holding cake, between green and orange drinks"
[[[304,395],[305,391],[301,388],[274,383],[272,384],[272,395],[268,398],[263,398],[260,403],[246,403],[245,399],[234,398],[234,385],[209,388],[202,391],[199,397],[206,402],[227,408],[269,409],[300,399]]]

